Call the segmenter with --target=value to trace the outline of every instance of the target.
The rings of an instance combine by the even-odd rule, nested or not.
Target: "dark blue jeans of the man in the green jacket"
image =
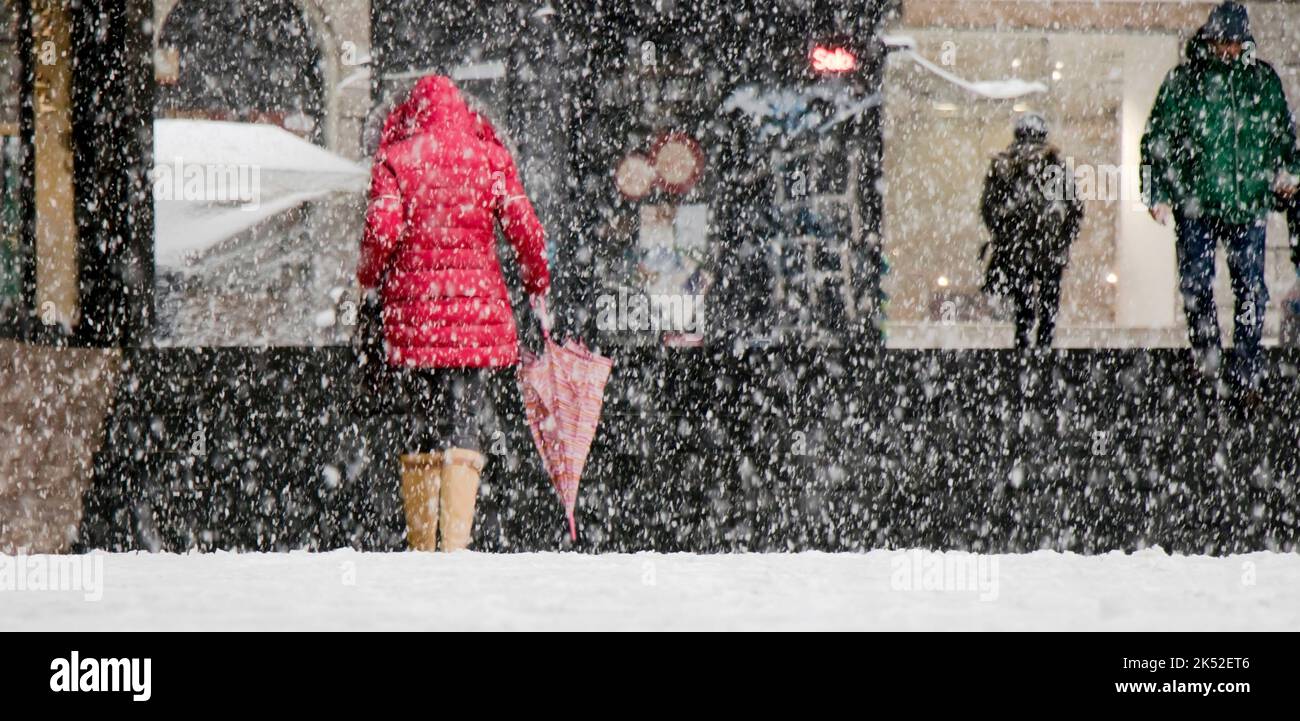
[[[1214,307],[1214,251],[1227,248],[1227,268],[1236,296],[1236,322],[1232,342],[1238,368],[1234,381],[1257,387],[1264,370],[1260,339],[1269,288],[1264,279],[1264,221],[1232,225],[1214,218],[1178,218],[1178,273],[1187,312],[1187,334],[1192,348],[1208,356],[1221,347],[1218,310]]]

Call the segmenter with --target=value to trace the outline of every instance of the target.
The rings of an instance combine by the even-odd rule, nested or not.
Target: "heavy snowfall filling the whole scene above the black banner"
[[[0,630],[1300,630],[1300,5],[0,26]]]

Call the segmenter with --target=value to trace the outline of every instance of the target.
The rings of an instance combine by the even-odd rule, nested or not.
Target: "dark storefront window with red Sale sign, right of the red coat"
[[[879,342],[883,4],[402,8],[378,95],[447,73],[506,129],[588,336]]]

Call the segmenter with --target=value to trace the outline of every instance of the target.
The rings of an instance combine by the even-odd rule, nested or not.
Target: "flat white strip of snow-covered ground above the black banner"
[[[17,590],[57,561],[0,556],[0,630],[1300,630],[1296,553],[82,559],[86,579],[101,572],[99,600],[86,600],[98,583],[95,594]]]

